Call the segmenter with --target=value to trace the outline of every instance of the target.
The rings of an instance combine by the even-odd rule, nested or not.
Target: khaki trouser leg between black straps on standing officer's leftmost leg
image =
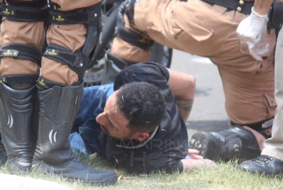
[[[23,43],[41,50],[45,38],[43,22],[16,22],[5,17],[1,23],[0,45]],[[0,75],[30,74],[39,75],[39,66],[24,59],[2,57]]]

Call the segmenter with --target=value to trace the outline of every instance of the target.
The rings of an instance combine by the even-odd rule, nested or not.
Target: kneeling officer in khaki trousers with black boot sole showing
[[[260,155],[270,137],[275,114],[275,30],[268,30],[269,49],[256,60],[236,29],[248,17],[253,1],[128,0],[108,59],[119,65],[146,61],[155,40],[190,54],[208,57],[219,70],[226,112],[232,127],[219,133],[197,132],[190,148],[211,160],[249,159]],[[125,14],[123,14],[125,13]],[[119,22],[120,23],[120,22]],[[120,59],[120,60],[121,60]],[[118,63],[117,63],[118,64]],[[215,151],[217,150],[217,151]]]

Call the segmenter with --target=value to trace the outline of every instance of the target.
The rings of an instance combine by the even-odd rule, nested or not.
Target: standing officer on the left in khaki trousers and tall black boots
[[[100,0],[49,3],[1,3],[0,125],[6,166],[12,172],[38,167],[69,180],[113,184],[115,171],[85,165],[68,141],[83,74],[99,44]],[[48,46],[42,58],[45,33]]]

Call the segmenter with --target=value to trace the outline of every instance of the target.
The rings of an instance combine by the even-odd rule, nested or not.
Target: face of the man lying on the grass
[[[117,91],[107,99],[104,111],[96,117],[96,121],[108,136],[115,139],[131,139],[132,133],[126,127],[129,121],[117,106],[116,93]]]

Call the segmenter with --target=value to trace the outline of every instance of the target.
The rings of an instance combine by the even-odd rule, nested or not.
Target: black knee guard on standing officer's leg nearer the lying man
[[[83,81],[87,65],[94,59],[94,54],[101,42],[101,3],[71,11],[62,11],[61,7],[50,2],[51,23],[57,25],[85,24],[87,35],[85,43],[80,51],[72,52],[65,47],[49,44],[43,56],[66,64],[78,74],[79,81],[73,86],[78,86]]]

